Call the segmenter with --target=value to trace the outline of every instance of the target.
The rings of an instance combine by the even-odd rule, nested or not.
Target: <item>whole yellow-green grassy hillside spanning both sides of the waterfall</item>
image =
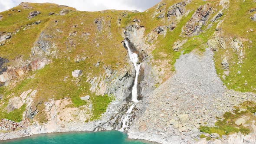
[[[97,96],[90,92],[90,85],[86,80],[88,77],[104,75],[103,67],[107,65],[116,70],[129,66],[126,61],[127,51],[121,42],[123,30],[126,26],[134,24],[134,19],[140,20],[139,25],[144,26],[145,37],[154,33],[158,26],[166,27],[165,35],[157,34],[158,38],[153,43],[145,43],[154,47],[150,53],[153,56],[153,65],[160,65],[162,69],[171,69],[170,72],[166,70],[168,71],[166,72],[167,77],[170,77],[170,73],[175,71],[174,63],[182,53],[203,52],[208,47],[208,39],[214,39],[216,33],[220,31],[222,32],[221,36],[229,40],[242,40],[245,53],[242,62],[237,52],[230,46],[230,41],[226,40],[227,49],[219,48],[215,52],[216,69],[228,88],[242,92],[255,92],[256,83],[253,78],[256,76],[256,22],[249,18],[256,13],[249,12],[256,7],[253,0],[230,0],[228,9],[219,5],[220,1],[218,0],[192,0],[184,6],[182,16],[168,17],[167,14],[172,6],[182,1],[163,0],[142,13],[120,10],[81,12],[71,7],[53,3],[22,3],[14,7],[13,10],[1,12],[0,15],[3,16],[3,19],[0,21],[0,32],[12,33],[10,41],[7,40],[3,46],[0,46],[0,56],[9,59],[8,65],[14,67],[19,65],[13,59],[20,55],[23,56],[23,62],[38,58],[47,58],[52,62],[45,68],[29,72],[11,85],[0,88],[0,93],[3,94],[3,99],[0,101],[0,110],[3,113],[0,118],[20,120],[24,106],[13,112],[15,115],[5,113],[6,106],[11,97],[19,96],[29,89],[38,91],[33,106],[41,111],[44,108],[43,103],[49,98],[55,100],[71,98],[73,105],[70,107],[79,107],[88,105],[80,97],[90,95],[94,113],[91,120],[99,118],[112,98],[107,95]],[[195,36],[185,35],[185,26],[190,20],[193,20],[199,7],[204,5],[211,7],[211,13],[200,28],[200,32]],[[223,16],[216,22],[211,22],[213,17],[222,9]],[[66,13],[60,15],[63,10]],[[33,11],[40,11],[41,13],[29,19],[29,13]],[[50,15],[49,13],[54,14]],[[161,14],[164,17],[159,18]],[[120,25],[118,24],[119,18],[121,19]],[[221,20],[223,22],[219,23]],[[35,22],[38,21],[40,23],[36,24]],[[172,23],[175,24],[175,28],[171,30],[168,26]],[[219,25],[218,29],[217,25]],[[42,39],[40,38],[42,33],[46,36],[43,40],[52,45],[50,54],[33,56],[32,49]],[[182,40],[185,40],[182,48],[177,52],[174,51],[174,43]],[[74,59],[77,57],[85,60],[75,62]],[[230,73],[225,78],[222,76],[224,70],[221,65],[224,57],[228,57],[230,63]],[[100,62],[98,67],[95,66],[97,62]],[[79,80],[71,75],[75,69],[83,70],[83,75]],[[29,79],[31,77],[33,79]],[[43,117],[43,112],[39,113],[38,117],[40,115]]]

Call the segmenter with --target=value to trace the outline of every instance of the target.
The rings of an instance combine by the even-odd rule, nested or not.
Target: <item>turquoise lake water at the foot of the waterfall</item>
[[[37,134],[0,142],[0,144],[150,144],[145,141],[130,140],[119,131],[71,132]]]

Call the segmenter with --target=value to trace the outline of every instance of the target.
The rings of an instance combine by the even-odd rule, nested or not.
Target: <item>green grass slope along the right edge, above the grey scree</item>
[[[238,55],[236,54],[229,45],[228,49],[219,49],[215,54],[215,63],[217,73],[220,74],[220,78],[227,86],[227,88],[234,89],[240,92],[256,92],[256,25],[255,22],[249,19],[253,13],[249,13],[249,10],[256,7],[256,3],[253,0],[238,0],[230,1],[230,8],[225,13],[225,19],[220,27],[223,30],[223,36],[231,39],[245,39],[243,42],[243,49],[245,52],[245,58],[242,60],[243,63],[238,65]],[[249,29],[253,29],[253,32],[247,32]],[[253,43],[249,43],[251,40]],[[230,75],[222,78],[222,59],[226,55],[229,58],[230,63]],[[240,71],[241,74],[237,72]],[[247,82],[246,82],[247,81]],[[244,85],[247,83],[247,85]]]

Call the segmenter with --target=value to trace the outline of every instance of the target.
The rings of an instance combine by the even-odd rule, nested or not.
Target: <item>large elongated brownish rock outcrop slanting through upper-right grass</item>
[[[212,7],[210,4],[205,4],[198,8],[184,27],[184,34],[187,36],[195,36],[200,33],[201,27],[206,23],[211,13]]]

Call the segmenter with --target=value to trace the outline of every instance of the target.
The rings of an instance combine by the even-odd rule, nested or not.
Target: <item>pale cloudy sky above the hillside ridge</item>
[[[143,12],[161,0],[0,0],[0,12],[19,5],[21,2],[57,3],[75,7],[81,11],[138,10]]]

